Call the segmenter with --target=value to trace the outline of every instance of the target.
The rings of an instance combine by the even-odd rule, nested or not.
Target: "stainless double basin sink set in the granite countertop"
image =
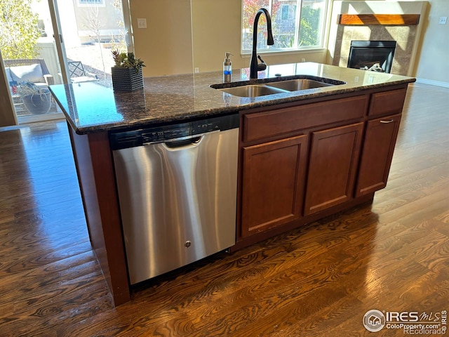
[[[259,97],[264,95],[275,95],[276,93],[289,93],[291,91],[307,90],[345,84],[343,81],[334,79],[267,79],[265,82],[250,84],[245,82],[234,82],[228,84],[213,84],[210,87],[239,97]]]

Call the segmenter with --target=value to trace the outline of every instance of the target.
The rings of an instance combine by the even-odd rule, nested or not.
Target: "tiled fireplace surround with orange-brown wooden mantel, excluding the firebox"
[[[429,1],[334,0],[326,63],[348,67],[351,41],[396,41],[390,74],[413,76]],[[342,15],[354,18],[342,21]],[[361,16],[358,16],[361,15]],[[367,20],[367,15],[370,20]],[[414,15],[417,20],[409,22]],[[424,20],[419,20],[424,18]],[[368,67],[370,68],[370,67]]]

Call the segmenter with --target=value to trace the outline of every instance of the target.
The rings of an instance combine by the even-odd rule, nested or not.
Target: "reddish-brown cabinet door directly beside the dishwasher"
[[[307,136],[243,147],[241,237],[300,218]]]

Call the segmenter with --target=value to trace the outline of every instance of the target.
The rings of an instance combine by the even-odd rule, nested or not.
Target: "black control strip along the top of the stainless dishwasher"
[[[225,131],[239,127],[239,114],[168,124],[133,131],[110,133],[112,150],[140,146],[147,143],[161,143],[166,140],[201,135],[213,131]]]

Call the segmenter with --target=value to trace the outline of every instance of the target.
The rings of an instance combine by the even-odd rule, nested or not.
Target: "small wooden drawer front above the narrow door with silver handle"
[[[406,100],[407,89],[397,89],[384,91],[382,93],[373,93],[371,95],[369,116],[382,114],[400,114]]]

